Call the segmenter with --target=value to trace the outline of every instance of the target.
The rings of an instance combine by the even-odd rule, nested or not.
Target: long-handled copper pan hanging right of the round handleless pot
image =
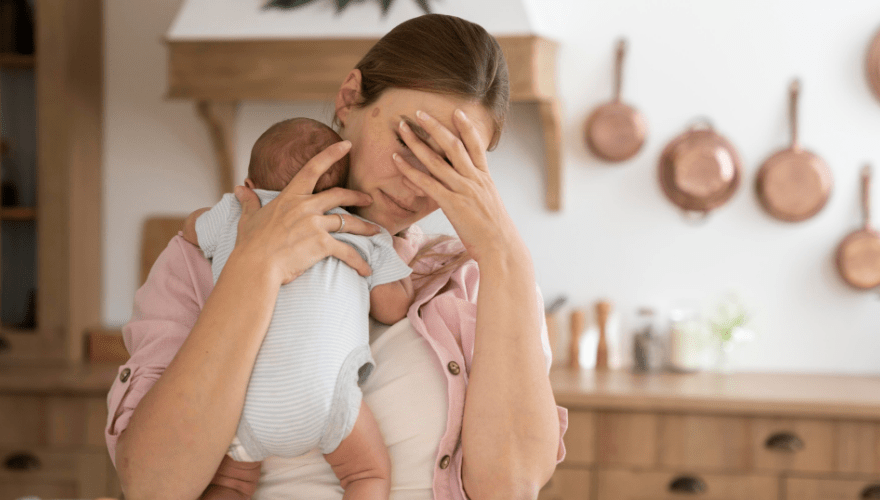
[[[831,195],[831,170],[821,158],[802,149],[798,142],[798,95],[800,82],[789,89],[791,145],[768,158],[755,182],[761,206],[773,217],[800,222],[819,213]]]

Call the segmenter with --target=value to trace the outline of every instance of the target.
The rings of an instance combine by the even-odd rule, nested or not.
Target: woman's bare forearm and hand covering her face
[[[535,498],[553,474],[559,414],[541,346],[531,256],[507,215],[486,146],[457,111],[457,137],[425,113],[419,124],[452,163],[408,127],[401,136],[432,176],[395,161],[443,209],[480,269],[477,325],[462,424],[462,480],[472,499]]]

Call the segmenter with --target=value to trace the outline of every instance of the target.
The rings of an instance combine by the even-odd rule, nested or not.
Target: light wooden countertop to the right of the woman
[[[570,410],[688,411],[880,419],[880,376],[652,373],[554,368],[556,402]]]

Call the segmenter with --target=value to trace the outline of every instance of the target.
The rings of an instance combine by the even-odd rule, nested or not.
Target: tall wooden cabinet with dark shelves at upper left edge
[[[4,207],[0,217],[3,296],[15,289],[16,300],[32,304],[34,321],[0,326],[0,363],[80,361],[86,329],[101,322],[102,17],[101,0],[37,0],[36,54],[0,54],[0,72],[30,74],[35,108],[29,122],[3,123],[35,137],[34,158],[19,165],[35,169],[30,206]],[[21,96],[6,95],[12,90],[0,91],[0,116],[27,107]],[[20,296],[31,289],[33,300]]]

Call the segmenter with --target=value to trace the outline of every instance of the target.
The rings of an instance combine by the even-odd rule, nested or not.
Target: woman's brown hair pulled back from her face
[[[510,102],[507,62],[479,24],[443,14],[410,19],[376,42],[355,69],[361,72],[356,106],[369,106],[391,88],[476,101],[495,122],[489,150],[498,144]]]

